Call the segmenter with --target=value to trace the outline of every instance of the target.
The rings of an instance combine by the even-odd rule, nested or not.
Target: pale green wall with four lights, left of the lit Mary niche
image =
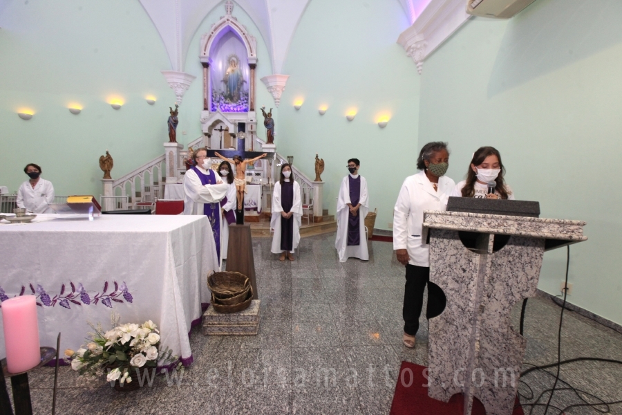
[[[175,95],[160,71],[170,62],[138,1],[9,1],[0,27],[0,185],[17,190],[24,165],[37,163],[56,194],[99,196],[106,149],[113,178],[162,154]],[[106,103],[113,94],[125,101],[118,111]],[[20,107],[35,116],[21,120]]]

